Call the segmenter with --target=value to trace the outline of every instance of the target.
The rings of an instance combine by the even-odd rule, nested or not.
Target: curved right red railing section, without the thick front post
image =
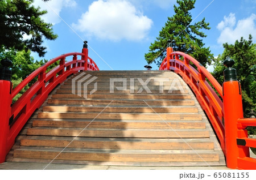
[[[180,60],[181,57],[183,60]],[[190,65],[190,62],[197,67],[197,70]],[[172,52],[172,48],[167,48],[167,57],[162,62],[159,70],[172,70],[176,72],[191,87],[201,107],[207,113],[220,140],[222,151],[225,154],[225,131],[222,123],[224,113],[222,110],[223,103],[220,99],[220,97],[222,98],[221,85],[196,59],[182,52]],[[207,80],[216,89],[218,95]]]

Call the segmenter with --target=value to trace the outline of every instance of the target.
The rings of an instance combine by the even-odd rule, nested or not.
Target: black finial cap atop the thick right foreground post
[[[228,67],[224,70],[224,82],[237,80],[237,70],[233,68],[234,60],[228,57],[224,62],[224,66]]]

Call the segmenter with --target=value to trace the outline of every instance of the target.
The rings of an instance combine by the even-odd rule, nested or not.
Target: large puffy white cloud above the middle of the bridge
[[[77,31],[87,36],[96,36],[104,40],[122,39],[137,41],[146,37],[152,26],[152,20],[144,16],[129,1],[94,1],[77,24]]]

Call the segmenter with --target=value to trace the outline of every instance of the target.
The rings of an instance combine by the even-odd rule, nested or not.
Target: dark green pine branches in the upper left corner
[[[55,40],[52,24],[45,23],[40,16],[47,11],[40,11],[32,6],[33,0],[0,1],[0,46],[5,49],[31,50],[40,57],[46,53],[42,46],[43,37]],[[27,35],[28,39],[23,36]]]

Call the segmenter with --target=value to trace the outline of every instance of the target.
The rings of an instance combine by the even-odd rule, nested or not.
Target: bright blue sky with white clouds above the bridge
[[[59,36],[44,41],[43,58],[81,52],[87,40],[89,57],[100,70],[143,70],[144,54],[174,15],[175,4],[176,0],[35,0],[35,6],[48,11],[43,19]],[[197,0],[191,13],[195,22],[205,17],[210,23],[204,43],[214,56],[223,52],[223,43],[233,44],[242,36],[247,39],[251,34],[256,42],[256,0]],[[32,56],[42,59],[36,53]]]

